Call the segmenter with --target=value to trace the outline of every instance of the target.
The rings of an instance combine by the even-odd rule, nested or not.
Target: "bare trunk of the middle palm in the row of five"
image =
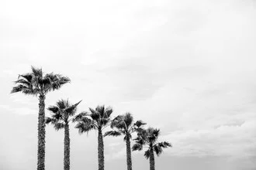
[[[104,170],[104,144],[101,129],[98,131],[98,162],[99,170]]]

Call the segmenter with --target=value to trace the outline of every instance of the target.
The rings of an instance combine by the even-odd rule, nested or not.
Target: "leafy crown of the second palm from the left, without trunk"
[[[47,109],[52,113],[51,117],[46,117],[46,124],[53,124],[54,128],[58,131],[64,128],[65,124],[74,120],[77,106],[80,104],[70,104],[68,100],[58,100],[56,106],[50,106]]]

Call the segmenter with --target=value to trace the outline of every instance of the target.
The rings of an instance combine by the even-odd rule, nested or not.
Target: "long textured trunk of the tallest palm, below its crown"
[[[37,148],[37,170],[44,170],[45,161],[45,113],[44,113],[45,97],[39,97],[39,114],[38,114],[38,148]]]

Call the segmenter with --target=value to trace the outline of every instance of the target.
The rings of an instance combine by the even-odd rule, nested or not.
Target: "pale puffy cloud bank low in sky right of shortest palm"
[[[221,125],[208,130],[174,131],[162,137],[172,143],[168,149],[176,156],[228,156],[252,158],[256,156],[256,121]]]

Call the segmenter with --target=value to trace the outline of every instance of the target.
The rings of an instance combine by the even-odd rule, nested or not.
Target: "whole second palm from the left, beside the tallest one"
[[[69,122],[73,121],[74,114],[80,102],[81,101],[77,104],[70,104],[68,100],[58,100],[56,106],[47,108],[53,114],[51,117],[46,117],[46,124],[53,124],[57,131],[64,128],[64,170],[70,169]]]

